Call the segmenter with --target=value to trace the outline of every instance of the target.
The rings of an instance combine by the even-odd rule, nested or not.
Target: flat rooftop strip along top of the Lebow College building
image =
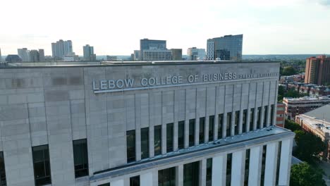
[[[279,63],[278,61],[51,61],[51,62],[8,62],[1,68],[41,68],[77,66],[151,66],[151,65],[191,65],[214,63]]]

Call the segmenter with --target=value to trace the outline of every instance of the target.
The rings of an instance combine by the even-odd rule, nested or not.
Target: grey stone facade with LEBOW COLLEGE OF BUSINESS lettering
[[[22,65],[0,69],[1,184],[289,185],[279,63]]]

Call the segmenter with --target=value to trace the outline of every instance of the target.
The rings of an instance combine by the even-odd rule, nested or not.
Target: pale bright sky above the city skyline
[[[130,55],[140,39],[168,49],[206,49],[207,39],[243,34],[243,54],[330,54],[330,0],[1,0],[2,55],[51,42]]]

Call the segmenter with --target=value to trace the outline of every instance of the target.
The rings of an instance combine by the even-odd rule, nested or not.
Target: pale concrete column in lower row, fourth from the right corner
[[[233,153],[231,160],[231,185],[244,185],[245,150]]]

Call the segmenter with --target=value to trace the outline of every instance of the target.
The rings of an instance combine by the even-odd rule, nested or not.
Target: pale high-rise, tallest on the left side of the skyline
[[[65,55],[73,52],[71,40],[63,41],[60,39],[56,43],[51,43],[53,58],[63,58]]]

